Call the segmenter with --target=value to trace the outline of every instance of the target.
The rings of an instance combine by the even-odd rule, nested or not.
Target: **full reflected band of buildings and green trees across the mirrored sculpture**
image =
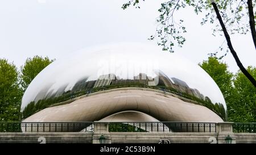
[[[53,90],[49,90],[46,87],[46,89],[40,91],[34,101],[30,102],[24,109],[23,117],[26,118],[31,115],[31,111],[35,112],[36,110],[46,108],[51,104],[65,102],[66,100],[97,91],[119,87],[147,87],[150,89],[160,89],[175,93],[176,95],[179,95],[182,100],[185,99],[188,102],[206,106],[225,120],[225,108],[221,103],[212,103],[209,97],[201,94],[196,88],[189,87],[186,82],[179,78],[169,78],[160,70],[155,72],[155,74],[157,76],[150,77],[145,73],[139,73],[137,76],[134,76],[133,79],[120,79],[115,74],[104,74],[99,76],[96,80],[91,81],[88,80],[89,77],[84,77],[77,81],[71,90],[66,90],[68,86],[68,84],[66,84],[54,93]]]

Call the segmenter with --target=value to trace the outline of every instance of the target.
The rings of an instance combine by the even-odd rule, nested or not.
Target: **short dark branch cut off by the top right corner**
[[[247,5],[248,5],[249,18],[250,18],[251,35],[253,36],[254,47],[256,48],[256,30],[255,30],[255,20],[254,20],[254,12],[253,12],[253,2],[251,0],[248,0]]]

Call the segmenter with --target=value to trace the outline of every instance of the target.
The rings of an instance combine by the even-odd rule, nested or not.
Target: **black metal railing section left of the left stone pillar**
[[[93,132],[93,122],[0,122],[0,132]]]

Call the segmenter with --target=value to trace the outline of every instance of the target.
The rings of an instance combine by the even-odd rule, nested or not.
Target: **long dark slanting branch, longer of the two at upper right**
[[[242,72],[243,74],[245,74],[245,76],[250,80],[250,82],[254,85],[254,87],[256,87],[256,81],[255,81],[255,79],[254,79],[253,76],[251,76],[251,74],[250,74],[249,72],[247,72],[247,70],[243,67],[243,65],[242,65],[242,63],[241,63],[241,61],[240,61],[240,59],[239,59],[238,56],[237,56],[236,51],[234,51],[233,45],[232,45],[231,40],[230,40],[229,33],[228,33],[228,31],[226,30],[225,24],[224,24],[224,22],[223,22],[223,20],[222,20],[222,18],[221,18],[220,11],[218,10],[218,7],[217,7],[216,3],[214,2],[214,0],[211,0],[210,2],[212,3],[213,9],[214,9],[214,11],[216,12],[218,21],[220,22],[221,28],[222,28],[222,30],[223,30],[223,32],[224,32],[225,37],[226,37],[226,41],[227,41],[227,43],[228,43],[228,47],[229,47],[230,52],[232,53],[234,59],[236,60],[238,67],[240,68],[241,72]]]

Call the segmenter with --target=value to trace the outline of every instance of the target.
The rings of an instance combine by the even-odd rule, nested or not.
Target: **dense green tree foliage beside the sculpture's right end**
[[[220,87],[228,107],[228,121],[256,122],[256,89],[242,72],[233,75],[228,65],[216,57],[209,57],[199,65]],[[247,71],[256,77],[256,68],[249,66]]]

